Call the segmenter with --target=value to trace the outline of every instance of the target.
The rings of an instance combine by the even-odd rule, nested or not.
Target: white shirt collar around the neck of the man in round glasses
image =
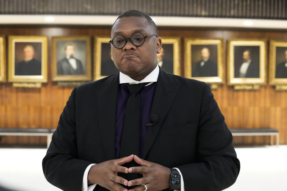
[[[132,79],[131,77],[120,72],[120,84],[123,84],[123,83],[139,84],[139,83],[145,83],[145,82],[156,82],[158,81],[158,74],[159,74],[159,66],[155,67],[155,69],[152,70],[152,72],[149,73],[149,75],[147,75],[141,81],[136,81]],[[152,84],[152,83],[149,83],[149,84]]]

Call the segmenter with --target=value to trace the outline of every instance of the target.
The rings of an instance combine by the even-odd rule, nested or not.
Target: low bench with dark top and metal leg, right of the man
[[[233,136],[270,136],[270,145],[273,145],[273,136],[276,135],[276,145],[279,145],[277,129],[229,129]]]

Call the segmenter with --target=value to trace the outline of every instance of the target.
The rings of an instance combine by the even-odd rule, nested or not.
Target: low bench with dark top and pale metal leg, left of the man
[[[49,147],[52,135],[56,129],[32,129],[32,128],[0,128],[1,135],[13,136],[47,136],[47,148]]]

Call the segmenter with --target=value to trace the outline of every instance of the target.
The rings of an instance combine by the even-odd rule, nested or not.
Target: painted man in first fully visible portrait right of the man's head
[[[217,76],[217,63],[210,60],[210,51],[204,47],[201,49],[201,60],[197,61],[192,68],[192,77],[212,77]]]

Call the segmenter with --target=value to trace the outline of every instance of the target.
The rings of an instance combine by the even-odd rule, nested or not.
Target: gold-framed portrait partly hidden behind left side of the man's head
[[[119,70],[114,64],[111,37],[99,37],[94,39],[94,80],[98,80],[117,73]]]

